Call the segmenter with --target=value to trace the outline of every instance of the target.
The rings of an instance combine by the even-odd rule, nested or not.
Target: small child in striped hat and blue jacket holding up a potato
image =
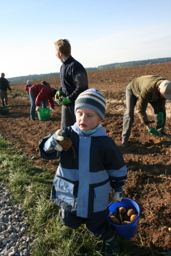
[[[77,229],[86,224],[95,237],[105,241],[105,255],[116,255],[119,245],[108,221],[108,201],[121,201],[127,168],[119,149],[101,126],[105,97],[96,89],[82,92],[75,101],[76,123],[40,141],[40,157],[60,164],[54,178],[51,201],[61,207],[63,225]],[[68,151],[58,144],[72,140]],[[98,220],[98,221],[97,221]]]

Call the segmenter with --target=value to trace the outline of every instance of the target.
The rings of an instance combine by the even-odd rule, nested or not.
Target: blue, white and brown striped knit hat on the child
[[[80,107],[91,108],[96,111],[103,120],[105,118],[105,97],[94,88],[88,89],[78,96],[75,101],[75,113],[76,109]]]

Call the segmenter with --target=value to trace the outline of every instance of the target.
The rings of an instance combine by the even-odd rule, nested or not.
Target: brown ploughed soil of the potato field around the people
[[[89,88],[96,88],[107,96],[107,114],[103,126],[115,140],[127,164],[128,179],[124,186],[124,197],[140,205],[139,233],[131,240],[138,246],[160,252],[171,250],[171,233],[168,230],[171,227],[171,141],[146,133],[136,111],[129,148],[121,147],[121,132],[127,84],[142,75],[160,75],[171,80],[170,70],[171,63],[165,63],[88,73]],[[48,83],[51,87],[59,88],[60,79],[48,79]],[[11,88],[14,93],[25,92],[25,83],[12,85]],[[47,166],[55,173],[59,162],[40,159],[38,142],[60,128],[61,107],[55,106],[57,114],[52,113],[50,121],[31,121],[27,97],[9,94],[9,105],[9,114],[0,116],[0,134],[22,149],[28,159],[34,157],[36,165]],[[166,107],[165,130],[170,133],[170,101],[167,101]],[[152,109],[148,107],[147,112],[153,124]]]

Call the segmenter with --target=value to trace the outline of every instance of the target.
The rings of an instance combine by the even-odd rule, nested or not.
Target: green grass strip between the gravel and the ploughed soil
[[[10,149],[10,150],[9,150]],[[85,225],[77,230],[62,226],[59,207],[50,201],[54,171],[34,166],[22,151],[0,137],[0,181],[27,213],[30,234],[35,235],[33,256],[101,256],[103,242],[92,237]],[[119,238],[120,256],[160,255],[150,248]]]

